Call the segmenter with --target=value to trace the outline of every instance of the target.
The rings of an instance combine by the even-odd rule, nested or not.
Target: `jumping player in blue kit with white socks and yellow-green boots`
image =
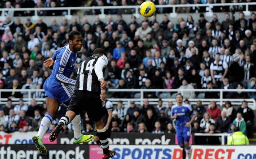
[[[78,31],[71,31],[68,34],[68,45],[59,48],[52,58],[44,61],[45,67],[53,66],[53,72],[44,83],[44,92],[46,96],[47,114],[41,120],[40,128],[36,136],[32,137],[37,150],[46,154],[47,149],[42,142],[44,133],[48,130],[54,116],[57,115],[60,104],[68,105],[74,94],[75,80],[71,79],[71,74],[75,67],[76,52],[82,47],[82,35]],[[81,134],[81,117],[75,116],[72,120],[74,125],[74,143],[89,142],[93,135]]]

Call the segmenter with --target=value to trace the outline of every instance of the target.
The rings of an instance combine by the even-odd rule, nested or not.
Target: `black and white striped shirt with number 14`
[[[88,90],[100,92],[100,79],[104,79],[103,69],[107,66],[108,60],[105,55],[93,55],[84,59],[77,71],[75,90]]]

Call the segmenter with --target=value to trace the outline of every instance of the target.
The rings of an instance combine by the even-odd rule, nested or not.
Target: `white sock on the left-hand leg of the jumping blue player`
[[[41,124],[39,127],[39,130],[37,132],[37,136],[42,139],[44,136],[44,133],[46,133],[46,131],[48,130],[48,128],[50,127],[51,123],[53,121],[53,116],[51,116],[50,114],[46,114],[43,119],[41,120]]]

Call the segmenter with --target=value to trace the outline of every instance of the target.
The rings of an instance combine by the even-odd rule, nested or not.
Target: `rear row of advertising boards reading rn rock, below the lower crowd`
[[[33,144],[31,137],[36,135],[37,132],[14,132],[5,133],[0,132],[0,145],[9,144]],[[93,132],[96,135],[95,132]],[[191,135],[190,143],[194,144],[193,136],[219,136],[221,137],[221,145],[225,145],[225,137],[229,136],[228,133],[194,133]],[[74,144],[73,133],[60,133],[57,140],[54,142],[49,141],[49,133],[44,135],[42,139],[45,144],[61,144],[69,145]],[[153,134],[153,133],[111,133],[110,144],[115,145],[174,145],[178,144],[175,133],[163,133],[163,134]],[[95,144],[89,142],[90,144]]]

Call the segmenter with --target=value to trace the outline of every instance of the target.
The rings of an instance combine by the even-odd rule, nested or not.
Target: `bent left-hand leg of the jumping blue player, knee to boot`
[[[55,99],[46,97],[46,106],[48,113],[41,120],[41,124],[37,132],[37,135],[32,137],[32,141],[35,143],[37,150],[39,150],[40,153],[43,154],[47,153],[47,149],[42,142],[42,138],[48,130],[50,124],[52,123],[54,116],[56,116],[57,114],[59,103]]]

